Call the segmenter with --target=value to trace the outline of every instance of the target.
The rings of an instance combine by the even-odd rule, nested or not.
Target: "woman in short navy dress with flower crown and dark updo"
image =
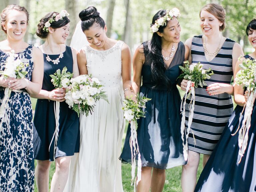
[[[39,94],[34,95],[37,98],[34,117],[34,153],[37,159],[35,179],[39,192],[48,191],[49,169],[54,160],[56,169],[51,192],[63,191],[71,157],[79,151],[79,118],[63,102],[65,89],[55,89],[50,77],[64,67],[67,67],[67,72],[73,73],[73,77],[79,75],[77,51],[64,45],[69,35],[68,15],[65,10],[60,13],[50,12],[40,20],[36,31],[38,37],[45,39],[45,43],[39,47],[44,56],[43,87]],[[56,127],[55,101],[60,102],[57,146],[55,142],[51,142]]]

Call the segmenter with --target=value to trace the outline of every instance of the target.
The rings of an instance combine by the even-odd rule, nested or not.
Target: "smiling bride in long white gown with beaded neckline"
[[[80,152],[71,159],[65,191],[122,192],[118,157],[125,121],[121,107],[124,96],[133,95],[131,53],[124,42],[106,36],[107,27],[95,7],[82,10],[79,17],[89,42],[77,56],[80,74],[98,78],[108,102],[100,100],[92,114],[80,116]]]

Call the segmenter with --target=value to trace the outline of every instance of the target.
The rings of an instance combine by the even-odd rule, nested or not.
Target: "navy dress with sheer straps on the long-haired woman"
[[[151,61],[147,57],[147,42],[143,43],[145,62],[142,67],[142,86],[140,95],[150,98],[146,103],[146,117],[138,119],[137,138],[141,153],[142,166],[150,166],[159,169],[168,169],[186,162],[183,156],[182,139],[180,132],[181,97],[176,87],[176,79],[180,75],[179,66],[183,65],[185,46],[178,44],[174,58],[166,69],[165,74],[172,82],[171,90],[162,84],[152,88]],[[129,144],[131,136],[130,125],[124,142],[120,160],[123,163],[131,163],[131,148]],[[137,158],[137,157],[136,157]]]

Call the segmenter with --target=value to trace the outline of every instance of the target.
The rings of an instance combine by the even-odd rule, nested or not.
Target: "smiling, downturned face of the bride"
[[[84,34],[90,44],[96,48],[102,48],[107,40],[107,27],[102,28],[97,24],[93,24]]]

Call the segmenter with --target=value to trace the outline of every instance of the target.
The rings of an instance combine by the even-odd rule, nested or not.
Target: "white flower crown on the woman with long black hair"
[[[167,9],[165,16],[157,19],[155,21],[155,24],[150,27],[150,32],[151,33],[157,32],[160,26],[165,26],[166,21],[170,21],[171,19],[173,19],[173,17],[180,18],[180,10],[177,9],[176,7],[171,10]]]

